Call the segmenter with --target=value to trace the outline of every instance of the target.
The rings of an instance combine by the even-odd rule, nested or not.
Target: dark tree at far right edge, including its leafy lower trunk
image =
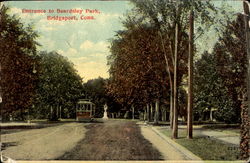
[[[245,4],[244,8],[248,9],[248,5]],[[246,23],[249,22],[247,17],[245,21]],[[244,27],[245,22],[242,14],[237,15],[236,20],[228,22],[225,31],[215,45],[214,53],[219,75],[226,87],[226,93],[233,101],[233,108],[237,112],[237,117],[241,117],[240,147],[241,157],[245,159],[249,158],[249,128],[247,128],[249,126],[249,117],[247,120],[247,104],[245,101],[247,99],[248,61],[246,32],[243,32]]]

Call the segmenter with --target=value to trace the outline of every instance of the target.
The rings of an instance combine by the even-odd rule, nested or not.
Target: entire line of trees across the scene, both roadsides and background
[[[217,9],[207,1],[132,2],[135,8],[123,22],[124,30],[118,31],[110,41],[110,79],[98,78],[85,84],[67,58],[56,52],[38,52],[35,41],[38,34],[32,26],[24,26],[2,7],[2,118],[14,114],[22,120],[27,115],[51,120],[74,117],[77,100],[90,98],[99,110],[97,117],[102,116],[103,104],[108,103],[110,112],[120,107],[137,110],[146,113],[144,118],[148,121],[154,119],[157,123],[163,104],[167,106],[165,109],[169,108],[173,137],[177,138],[178,115],[181,115],[188,121],[191,138],[192,53],[196,52],[193,39],[205,30],[200,24],[208,27],[214,22]],[[240,122],[240,111],[246,110],[247,53],[243,19],[238,15],[236,20],[228,22],[213,51],[205,52],[195,62],[194,112],[198,117],[206,109],[215,108],[217,120],[234,123]],[[249,134],[244,129],[242,135],[242,146],[248,150],[245,138]]]

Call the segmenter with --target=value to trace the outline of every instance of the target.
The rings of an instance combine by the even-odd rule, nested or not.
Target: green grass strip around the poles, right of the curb
[[[168,137],[172,135],[170,130],[163,130],[162,133]],[[176,139],[175,142],[203,160],[239,160],[239,148],[237,146],[195,134],[193,139],[187,139],[186,130],[179,129],[178,134],[179,139]]]

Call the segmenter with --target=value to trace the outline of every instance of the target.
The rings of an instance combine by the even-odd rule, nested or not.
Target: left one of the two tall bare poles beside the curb
[[[177,9],[178,10],[178,9]],[[174,54],[174,121],[172,137],[178,138],[178,88],[177,88],[177,76],[178,76],[178,23],[175,26],[175,54]]]

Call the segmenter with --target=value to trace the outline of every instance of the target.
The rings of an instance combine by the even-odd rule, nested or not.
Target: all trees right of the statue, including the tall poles
[[[144,117],[149,121],[152,114],[150,106],[155,103],[156,123],[159,102],[170,104],[173,138],[178,135],[178,114],[185,110],[188,114],[188,137],[191,138],[192,53],[197,50],[193,40],[215,23],[217,12],[226,11],[208,1],[132,0],[132,3],[135,7],[123,22],[124,30],[118,31],[111,40],[107,91],[123,107],[146,113]],[[233,22],[220,20],[224,26],[219,31],[220,37],[212,53],[204,52],[195,61],[194,113],[198,119],[206,110],[216,110],[215,116],[219,121],[238,123],[241,120],[247,70],[243,18],[237,15]],[[194,36],[193,21],[196,24]],[[205,28],[201,28],[201,24]],[[181,96],[181,90],[187,88],[187,78],[188,105],[183,101],[187,98]],[[243,139],[246,140],[246,134]]]

